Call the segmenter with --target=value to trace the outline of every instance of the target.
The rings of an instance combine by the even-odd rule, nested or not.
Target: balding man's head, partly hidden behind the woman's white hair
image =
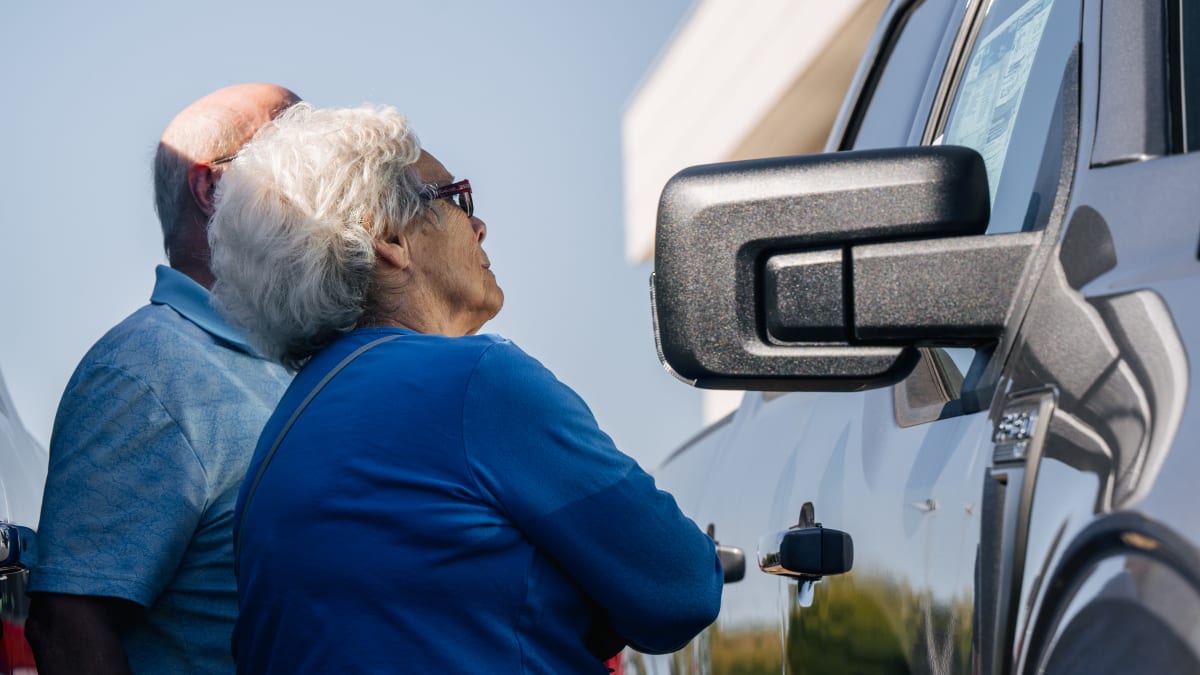
[[[170,267],[212,286],[205,226],[222,160],[299,100],[274,84],[236,84],[196,101],[167,125],[155,154],[154,191]]]

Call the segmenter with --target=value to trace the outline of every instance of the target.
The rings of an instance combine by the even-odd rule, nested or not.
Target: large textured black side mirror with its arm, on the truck
[[[953,145],[684,169],[659,202],[659,356],[697,387],[833,392],[995,341],[1036,239],[984,237],[989,210],[983,159]]]

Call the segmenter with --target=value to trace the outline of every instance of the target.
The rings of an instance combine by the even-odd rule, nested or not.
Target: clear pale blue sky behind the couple
[[[0,369],[48,442],[76,363],[163,261],[150,159],[239,82],[403,110],[469,178],[514,339],[653,468],[701,426],[654,353],[649,265],[623,258],[620,115],[691,0],[6,2]],[[682,167],[680,167],[682,168]]]

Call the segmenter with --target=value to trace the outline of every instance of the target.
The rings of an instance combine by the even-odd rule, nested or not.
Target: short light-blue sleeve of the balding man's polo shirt
[[[77,372],[55,418],[30,590],[149,607],[205,495],[191,444],[145,383],[108,365]]]

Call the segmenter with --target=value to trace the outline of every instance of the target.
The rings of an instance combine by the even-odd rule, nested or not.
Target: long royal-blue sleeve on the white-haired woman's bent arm
[[[635,649],[673,651],[715,620],[712,539],[574,390],[511,342],[490,347],[472,375],[463,440],[480,489]]]

